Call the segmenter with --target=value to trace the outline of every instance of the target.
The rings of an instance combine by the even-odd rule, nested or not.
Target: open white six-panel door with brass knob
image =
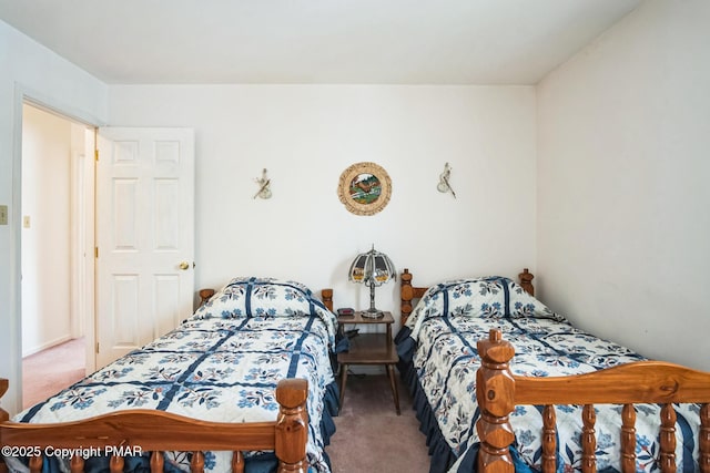
[[[194,133],[105,127],[97,162],[97,368],[178,326],[194,298]]]

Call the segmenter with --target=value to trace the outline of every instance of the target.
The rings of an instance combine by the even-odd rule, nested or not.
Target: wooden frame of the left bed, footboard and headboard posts
[[[201,305],[214,290],[200,291]],[[322,297],[333,309],[333,290],[323,289]],[[0,398],[9,382],[0,378]],[[193,473],[204,471],[204,451],[231,451],[232,471],[244,472],[244,451],[273,450],[278,459],[278,473],[306,473],[306,442],[308,413],[305,379],[285,379],[276,387],[280,410],[273,422],[206,422],[163,411],[133,409],[103,414],[75,422],[51,424],[10,422],[0,408],[0,445],[13,455],[29,456],[30,472],[40,473],[44,454],[67,449],[71,453],[71,472],[84,470],[87,452],[108,453],[111,473],[121,473],[124,455],[152,452],[152,472],[162,472],[164,451],[193,452],[190,464]],[[93,450],[91,450],[93,449]],[[0,473],[8,466],[0,456]]]

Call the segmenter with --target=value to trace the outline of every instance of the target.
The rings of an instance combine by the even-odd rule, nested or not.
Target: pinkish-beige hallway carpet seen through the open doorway
[[[84,339],[60,343],[22,359],[22,405],[29,408],[84,377]]]

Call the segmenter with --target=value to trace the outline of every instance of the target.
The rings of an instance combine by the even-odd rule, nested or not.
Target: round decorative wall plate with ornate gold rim
[[[375,163],[355,163],[341,174],[337,195],[353,214],[375,215],[389,202],[392,181]]]

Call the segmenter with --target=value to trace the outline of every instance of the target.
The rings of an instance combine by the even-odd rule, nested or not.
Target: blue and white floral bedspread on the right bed
[[[591,372],[641,360],[617,343],[601,340],[569,325],[514,281],[501,277],[452,280],[429,288],[397,335],[399,369],[414,394],[427,434],[432,472],[474,471],[479,439],[475,423],[476,343],[493,328],[515,347],[515,374],[554,377]],[[557,410],[560,472],[580,470],[581,407]],[[660,471],[658,431],[660,407],[638,404],[637,471]],[[596,405],[598,471],[620,471],[620,405]],[[678,404],[678,471],[698,471],[699,411]],[[541,408],[517,407],[510,415],[515,430],[516,471],[538,471],[541,457]]]

